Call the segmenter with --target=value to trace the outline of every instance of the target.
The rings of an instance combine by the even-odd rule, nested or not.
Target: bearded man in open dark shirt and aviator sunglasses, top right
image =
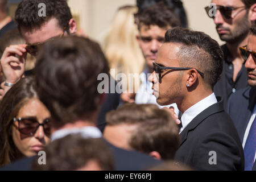
[[[238,89],[246,88],[247,75],[245,61],[239,47],[247,44],[249,29],[256,20],[255,0],[212,0],[216,5],[216,14],[212,15],[212,6],[205,7],[206,13],[213,18],[220,39],[226,44],[221,46],[224,52],[224,69],[220,81],[214,86],[214,93],[224,98],[224,106],[229,96]]]

